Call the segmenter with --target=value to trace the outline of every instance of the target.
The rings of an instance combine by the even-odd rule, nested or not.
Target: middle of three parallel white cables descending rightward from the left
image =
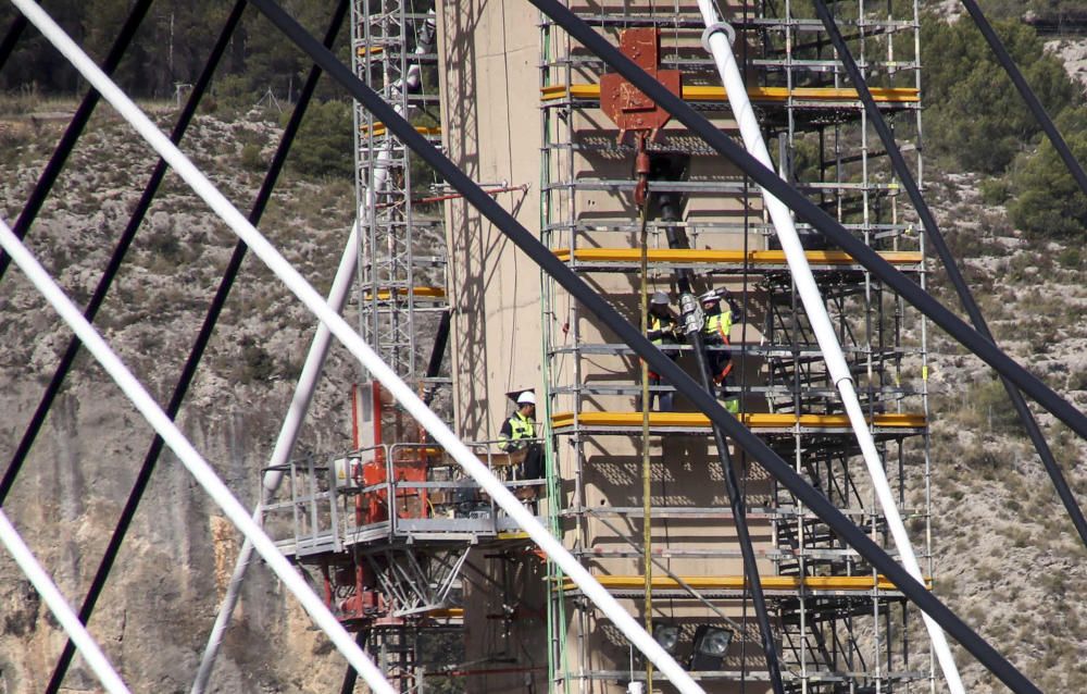
[[[22,0],[14,0],[22,2]],[[35,22],[34,16],[27,14],[27,18]],[[55,26],[55,25],[54,25]],[[40,28],[40,26],[39,26]],[[58,29],[59,30],[59,29]],[[46,32],[42,32],[46,34]],[[52,39],[50,39],[52,40]],[[113,352],[105,340],[91,326],[87,319],[83,317],[79,309],[73,303],[64,290],[53,282],[49,273],[38,264],[30,252],[18,240],[14,232],[5,222],[0,220],[0,246],[11,256],[12,260],[20,267],[27,278],[37,287],[38,292],[53,306],[61,318],[75,332],[76,336],[84,344],[95,359],[105,369],[110,377],[121,387],[121,391],[128,397],[132,404],[139,410],[140,414],[154,427],[154,431],[162,436],[163,442],[174,451],[182,464],[192,474],[198,483],[208,492],[212,500],[215,501],[226,513],[227,518],[238,526],[247,537],[249,537],[257,552],[264,558],[268,567],[279,577],[288,591],[295,594],[302,607],[309,612],[313,621],[328,634],[340,653],[363,676],[366,683],[375,692],[382,694],[393,694],[392,686],[385,680],[370,658],[354,643],[343,625],[333,616],[320,597],[310,588],[301,575],[290,566],[287,558],[276,548],[275,543],[264,534],[249,512],[246,511],[241,503],[238,501],[226,488],[223,481],[218,479],[211,466],[200,456],[192,444],[185,437],[173,421],[162,411],[159,404],[148,394],[136,376],[128,371],[127,367]]]

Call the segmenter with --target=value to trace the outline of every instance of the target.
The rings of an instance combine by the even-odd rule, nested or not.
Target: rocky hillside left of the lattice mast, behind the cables
[[[22,208],[71,116],[39,109],[0,119],[0,213]],[[77,303],[89,298],[153,165],[142,140],[100,109],[27,241]],[[172,110],[159,114],[168,127]],[[183,142],[248,212],[279,135],[261,113],[200,116]],[[247,148],[248,146],[248,148]],[[243,152],[245,156],[243,156]],[[327,290],[347,238],[349,183],[287,174],[261,228],[313,283]],[[165,404],[236,239],[168,175],[117,277],[98,324],[122,359]],[[289,401],[313,320],[254,257],[246,260],[180,424],[242,503],[257,497],[259,470]],[[0,459],[9,460],[52,376],[70,332],[12,269],[0,293]],[[301,449],[350,445],[345,412],[353,367],[329,361]],[[68,596],[89,585],[116,515],[151,442],[151,430],[86,356],[76,362],[30,459],[8,499],[15,520]],[[3,463],[7,466],[7,462]],[[187,691],[237,552],[237,533],[192,478],[164,455],[140,506],[91,631],[134,691]],[[342,665],[326,640],[261,568],[220,660],[222,692],[328,691]],[[77,602],[77,600],[75,600]],[[63,634],[17,568],[0,557],[0,691],[42,691]],[[327,656],[327,657],[325,657]],[[95,691],[83,666],[66,691]]]

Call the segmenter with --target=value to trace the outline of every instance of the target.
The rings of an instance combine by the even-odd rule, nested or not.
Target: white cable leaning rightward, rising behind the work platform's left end
[[[336,312],[343,310],[347,296],[354,280],[355,268],[359,267],[359,222],[355,220],[351,226],[351,235],[348,237],[347,246],[340,258],[339,268],[333,280],[332,289],[328,292],[328,305]],[[290,406],[287,408],[287,416],[284,418],[283,426],[279,429],[279,436],[276,438],[268,459],[268,472],[264,473],[261,484],[261,498],[253,509],[253,520],[261,523],[263,516],[263,505],[270,495],[278,488],[283,481],[283,471],[279,469],[290,460],[298,442],[298,433],[305,421],[305,414],[310,409],[313,399],[313,392],[317,386],[317,380],[324,370],[325,357],[328,355],[328,347],[332,343],[332,333],[324,323],[317,323],[317,330],[310,344],[310,350],[305,356],[305,363],[302,372],[298,376],[298,385],[295,387],[295,395],[291,397]],[[211,680],[212,670],[215,668],[215,658],[218,656],[218,648],[223,644],[223,636],[230,624],[230,617],[238,599],[241,597],[241,584],[246,580],[246,572],[249,569],[249,561],[253,556],[253,543],[247,537],[241,544],[241,552],[234,562],[234,572],[230,574],[230,582],[226,586],[226,594],[223,603],[215,615],[215,623],[208,635],[208,644],[204,646],[203,655],[200,657],[200,667],[197,669],[197,677],[192,681],[191,694],[202,694]]]

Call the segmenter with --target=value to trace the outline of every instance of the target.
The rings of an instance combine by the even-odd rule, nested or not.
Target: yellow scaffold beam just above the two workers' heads
[[[583,262],[638,262],[641,250],[638,248],[576,248],[573,253],[569,248],[557,248],[554,255],[562,261],[574,260]],[[857,260],[844,250],[808,250],[804,251],[808,262],[812,265],[850,265]],[[880,251],[879,257],[892,265],[914,265],[924,260],[920,251]],[[711,250],[697,248],[650,248],[647,251],[649,262],[675,262],[695,264],[741,265],[745,261],[751,265],[785,265],[784,250]]]

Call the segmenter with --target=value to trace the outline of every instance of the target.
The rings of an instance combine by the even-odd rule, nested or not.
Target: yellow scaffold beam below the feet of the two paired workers
[[[848,429],[849,418],[845,414],[800,414],[748,412],[740,416],[748,429]],[[573,412],[557,412],[551,425],[563,429],[574,424]],[[641,412],[582,412],[577,416],[583,426],[640,426]],[[921,429],[925,426],[925,416],[916,413],[876,414],[869,422],[877,429]],[[650,412],[650,426],[710,427],[710,420],[701,412]]]

